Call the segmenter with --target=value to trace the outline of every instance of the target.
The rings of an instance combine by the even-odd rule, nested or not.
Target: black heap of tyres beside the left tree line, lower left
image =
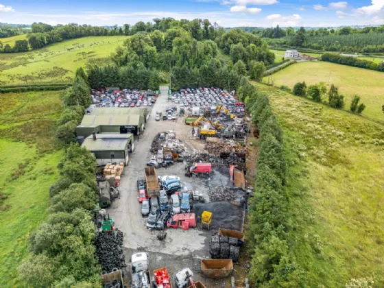
[[[96,255],[101,266],[101,274],[115,272],[126,266],[123,255],[123,232],[116,229],[115,233],[99,233],[95,240]]]

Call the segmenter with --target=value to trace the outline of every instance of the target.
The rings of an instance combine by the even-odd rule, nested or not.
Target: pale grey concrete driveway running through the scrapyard
[[[135,150],[130,154],[128,167],[125,168],[119,186],[120,197],[107,209],[110,217],[115,221],[115,227],[124,233],[125,263],[129,263],[132,253],[147,252],[152,269],[167,266],[172,276],[184,267],[189,267],[195,274],[195,280],[204,281],[206,287],[225,287],[225,280],[215,281],[204,279],[200,273],[200,259],[208,259],[208,245],[211,232],[200,228],[184,231],[181,229],[167,229],[167,237],[160,241],[156,238],[157,231],[149,231],[145,227],[146,218],[141,216],[141,205],[137,199],[137,178],[144,177],[144,167],[150,158],[149,148],[152,139],[158,132],[174,130],[186,149],[202,149],[200,141],[190,139],[191,129],[184,125],[184,119],[177,121],[155,121],[156,111],[163,114],[171,103],[167,97],[168,87],[160,87],[161,94],[149,115],[145,132],[135,142]],[[172,103],[173,104],[173,103]],[[158,169],[158,175],[177,175],[184,177],[184,170],[180,165],[173,165],[167,169]],[[196,179],[195,179],[196,180]],[[198,180],[196,180],[198,181]],[[127,267],[130,269],[129,265]]]

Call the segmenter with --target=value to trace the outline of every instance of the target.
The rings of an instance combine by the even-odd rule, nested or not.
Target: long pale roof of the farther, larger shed
[[[141,115],[84,115],[81,126],[139,126],[143,123]]]

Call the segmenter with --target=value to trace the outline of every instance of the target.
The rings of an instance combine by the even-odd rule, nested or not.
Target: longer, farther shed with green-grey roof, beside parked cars
[[[102,108],[108,110],[109,108]],[[118,110],[123,108],[117,108]],[[111,111],[113,112],[113,111]],[[76,127],[77,136],[88,137],[95,133],[132,133],[138,135],[145,128],[145,117],[131,115],[84,115],[82,123]]]

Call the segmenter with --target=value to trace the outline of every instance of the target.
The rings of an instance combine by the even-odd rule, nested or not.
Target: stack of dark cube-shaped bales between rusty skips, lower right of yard
[[[212,259],[232,259],[239,260],[240,247],[239,240],[233,237],[214,235],[211,237],[209,254]]]

